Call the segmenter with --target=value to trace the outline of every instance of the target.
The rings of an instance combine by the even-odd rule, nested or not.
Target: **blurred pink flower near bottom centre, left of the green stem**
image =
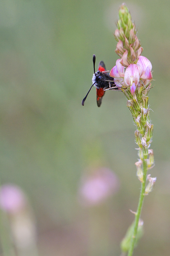
[[[82,178],[80,201],[84,206],[97,205],[119,189],[119,179],[113,171],[99,168],[92,175]]]

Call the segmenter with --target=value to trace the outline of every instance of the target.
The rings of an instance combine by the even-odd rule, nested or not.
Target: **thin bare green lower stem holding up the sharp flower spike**
[[[146,158],[147,158],[147,156],[146,156]],[[145,197],[146,173],[147,173],[147,164],[146,164],[145,157],[143,157],[143,182],[141,183],[138,209],[135,214],[134,231],[133,231],[133,235],[132,235],[132,239],[131,239],[131,245],[130,245],[130,248],[128,251],[128,256],[133,255],[135,239],[136,239],[137,230],[138,230],[138,222],[139,222],[139,218],[140,218],[140,214],[141,214],[141,210],[142,210],[143,200]]]

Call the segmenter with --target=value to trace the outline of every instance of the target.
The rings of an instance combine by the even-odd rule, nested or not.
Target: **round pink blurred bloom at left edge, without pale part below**
[[[18,186],[6,184],[0,188],[0,206],[8,213],[16,213],[25,207],[24,193]]]

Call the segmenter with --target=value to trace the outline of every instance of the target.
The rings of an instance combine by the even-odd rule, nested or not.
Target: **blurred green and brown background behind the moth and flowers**
[[[120,255],[132,223],[140,182],[135,126],[123,93],[107,91],[100,108],[92,88],[93,62],[110,70],[120,1],[1,0],[1,183],[29,196],[40,256]],[[170,2],[128,1],[143,54],[152,63],[151,148],[157,176],[144,201],[144,236],[135,256],[170,251]],[[81,177],[107,167],[119,191],[95,207],[78,199]]]

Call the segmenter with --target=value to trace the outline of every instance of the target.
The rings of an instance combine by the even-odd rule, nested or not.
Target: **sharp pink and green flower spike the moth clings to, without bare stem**
[[[137,30],[125,4],[120,7],[119,20],[114,36],[118,42],[116,54],[121,59],[117,59],[116,65],[110,71],[110,76],[114,77],[115,85],[127,97],[127,107],[130,109],[134,123],[137,126],[135,141],[139,147],[139,161],[135,165],[137,166],[138,179],[143,182],[143,170],[141,168],[143,161],[146,161],[147,169],[154,164],[153,150],[149,149],[152,142],[153,124],[150,123],[150,108],[148,105],[148,92],[152,81],[152,64],[146,57],[141,56],[143,48],[137,38]],[[148,186],[153,186],[155,181]],[[147,191],[145,194],[148,194],[151,188],[148,188]]]

